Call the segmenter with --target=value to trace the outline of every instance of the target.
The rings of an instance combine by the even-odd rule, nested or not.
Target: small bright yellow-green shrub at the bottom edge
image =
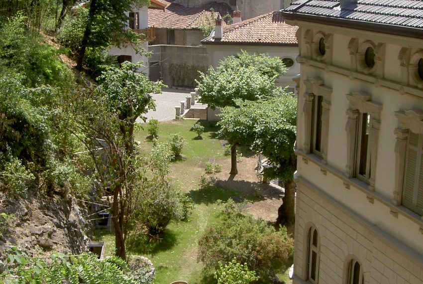
[[[254,271],[248,269],[247,264],[239,264],[236,259],[224,266],[219,262],[214,278],[217,284],[249,284],[259,279]]]

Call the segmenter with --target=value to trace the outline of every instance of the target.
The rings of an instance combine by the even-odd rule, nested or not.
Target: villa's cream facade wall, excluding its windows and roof
[[[423,40],[370,33],[322,24],[288,21],[300,26],[301,83],[298,96],[298,176],[294,283],[306,279],[307,225],[313,223],[320,233],[319,283],[345,283],[348,255],[359,259],[365,283],[423,283],[423,222],[419,215],[394,202],[396,136],[399,126],[395,112],[423,110],[423,90],[416,82],[402,77],[399,53],[403,47],[411,54]],[[332,33],[329,56],[318,60],[308,50],[306,30]],[[310,31],[309,31],[310,32]],[[361,45],[366,40],[385,44],[381,69],[377,74],[353,70],[348,43],[352,37]],[[331,56],[330,56],[331,54]],[[332,89],[329,111],[327,164],[306,154],[303,106],[304,81],[320,78]],[[377,143],[374,191],[357,178],[348,178],[346,94],[367,92],[382,105]],[[347,189],[346,187],[349,187]],[[302,281],[300,281],[302,280]]]

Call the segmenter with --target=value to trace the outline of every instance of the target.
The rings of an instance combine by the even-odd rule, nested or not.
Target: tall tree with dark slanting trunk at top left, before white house
[[[87,24],[81,40],[76,68],[82,70],[87,47],[99,48],[139,42],[139,35],[125,30],[125,12],[149,4],[149,0],[90,0]]]

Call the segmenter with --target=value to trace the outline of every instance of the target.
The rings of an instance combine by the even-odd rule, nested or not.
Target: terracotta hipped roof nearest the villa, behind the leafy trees
[[[227,25],[223,28],[223,36],[220,41],[215,41],[212,35],[203,39],[202,43],[296,45],[298,44],[295,36],[297,29],[297,26],[285,22],[280,11],[272,11]]]

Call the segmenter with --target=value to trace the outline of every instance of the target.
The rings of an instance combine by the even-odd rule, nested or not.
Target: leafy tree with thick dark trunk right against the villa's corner
[[[274,166],[266,174],[284,181],[285,196],[278,210],[278,223],[295,220],[294,172],[297,158],[297,100],[290,95],[259,101],[237,101],[237,107],[222,109],[220,135],[231,144],[245,143],[262,152]]]

